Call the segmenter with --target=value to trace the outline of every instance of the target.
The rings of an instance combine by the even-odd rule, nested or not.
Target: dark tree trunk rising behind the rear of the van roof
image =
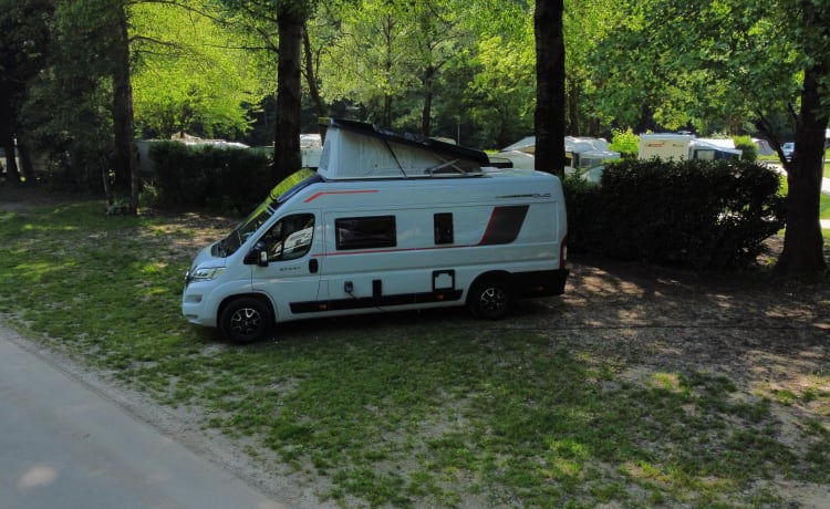
[[[564,39],[563,0],[537,0],[536,31],[536,169],[564,174]]]

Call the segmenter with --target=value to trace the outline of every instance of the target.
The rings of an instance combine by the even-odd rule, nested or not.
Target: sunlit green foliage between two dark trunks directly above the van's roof
[[[373,0],[333,2],[309,27],[330,103],[412,132],[429,105],[430,135],[501,147],[532,131],[531,21],[510,1]]]

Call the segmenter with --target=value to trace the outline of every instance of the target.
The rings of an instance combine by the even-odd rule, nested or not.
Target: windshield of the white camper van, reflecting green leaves
[[[222,258],[234,254],[248,240],[248,237],[253,235],[259,227],[277,212],[282,204],[299,190],[318,181],[323,181],[323,178],[317,172],[303,168],[279,183],[268,194],[268,198],[259,204],[228,237],[214,245],[211,253]]]

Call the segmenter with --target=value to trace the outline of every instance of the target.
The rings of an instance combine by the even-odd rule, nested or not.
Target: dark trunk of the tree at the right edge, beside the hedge
[[[827,71],[821,64],[805,71],[801,111],[796,123],[796,149],[787,173],[787,230],[784,251],[775,267],[777,277],[815,279],[827,271],[819,222],[824,129],[828,125],[819,84]]]

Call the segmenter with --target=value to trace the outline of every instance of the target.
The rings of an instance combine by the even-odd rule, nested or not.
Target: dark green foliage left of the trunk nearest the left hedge
[[[34,154],[51,163],[45,180],[60,190],[98,191],[114,169],[113,7],[58,2],[44,69],[28,84],[20,124]]]

